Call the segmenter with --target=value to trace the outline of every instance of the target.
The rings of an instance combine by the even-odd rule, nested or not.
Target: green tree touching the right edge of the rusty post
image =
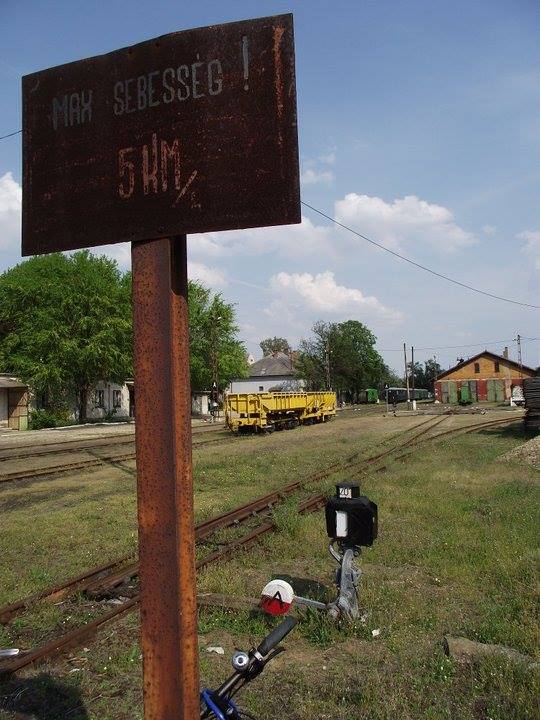
[[[224,390],[234,377],[246,377],[244,344],[238,340],[234,305],[198,282],[189,281],[191,389],[207,390],[217,377]]]

